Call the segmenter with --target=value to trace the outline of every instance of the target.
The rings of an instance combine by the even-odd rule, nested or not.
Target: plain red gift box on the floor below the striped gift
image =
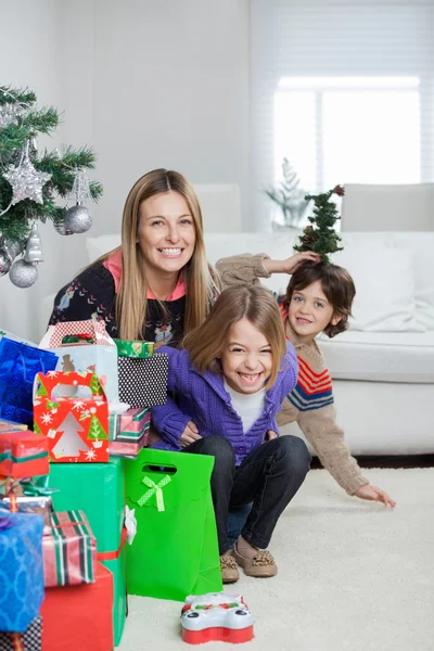
[[[93,584],[47,589],[43,651],[112,651],[113,575],[98,563],[95,578]]]

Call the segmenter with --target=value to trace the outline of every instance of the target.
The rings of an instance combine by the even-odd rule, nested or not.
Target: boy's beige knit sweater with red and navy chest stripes
[[[259,278],[270,277],[263,265],[267,257],[265,254],[245,254],[222,258],[217,263],[222,285],[259,284]],[[336,424],[332,381],[324,359],[315,341],[304,344],[298,340],[288,314],[282,306],[280,309],[286,339],[297,354],[299,371],[295,388],[283,400],[277,416],[278,425],[296,422],[322,465],[348,495],[354,495],[369,482],[362,476],[344,441],[344,432]]]

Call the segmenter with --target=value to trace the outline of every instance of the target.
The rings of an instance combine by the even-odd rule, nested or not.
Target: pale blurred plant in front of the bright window
[[[297,173],[291,167],[288,158],[282,163],[283,181],[278,188],[270,188],[265,193],[278,204],[283,215],[283,224],[296,228],[306,212],[305,190],[299,188]]]

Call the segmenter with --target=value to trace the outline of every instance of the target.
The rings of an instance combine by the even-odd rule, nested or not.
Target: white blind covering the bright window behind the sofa
[[[294,163],[295,146],[308,191],[328,190],[333,169],[350,182],[434,181],[433,43],[433,0],[252,0],[256,228],[269,226],[263,190],[278,180],[280,156]],[[357,141],[362,127],[368,136]],[[362,169],[357,148],[366,154],[369,138],[372,168],[367,159]],[[341,150],[347,165],[339,162]],[[379,163],[391,151],[395,171]]]

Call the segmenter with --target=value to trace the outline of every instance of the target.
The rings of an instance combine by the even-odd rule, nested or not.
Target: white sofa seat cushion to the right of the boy
[[[318,344],[331,376],[372,382],[434,382],[434,330],[426,332],[347,331]]]

